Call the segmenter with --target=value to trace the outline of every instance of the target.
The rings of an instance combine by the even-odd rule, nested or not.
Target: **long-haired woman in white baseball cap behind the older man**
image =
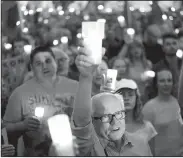
[[[152,148],[152,138],[157,135],[157,132],[149,121],[143,120],[141,113],[143,104],[140,99],[137,84],[133,80],[122,79],[116,85],[116,89],[116,93],[121,94],[124,99],[126,130],[142,138],[147,143],[147,146],[150,144]],[[146,150],[150,150],[150,148]]]

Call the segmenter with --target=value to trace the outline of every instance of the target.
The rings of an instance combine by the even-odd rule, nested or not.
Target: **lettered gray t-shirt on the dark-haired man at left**
[[[78,83],[65,77],[58,77],[54,88],[45,88],[35,78],[27,81],[12,93],[4,115],[5,122],[16,123],[28,116],[34,116],[37,106],[44,107],[40,130],[26,132],[23,135],[25,156],[46,156],[44,149],[36,151],[35,147],[50,139],[47,120],[60,113],[71,115],[74,96]],[[59,103],[55,103],[59,96]],[[44,148],[44,147],[43,147]]]

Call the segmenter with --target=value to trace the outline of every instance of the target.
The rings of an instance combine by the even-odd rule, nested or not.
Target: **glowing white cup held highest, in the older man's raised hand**
[[[96,65],[102,61],[102,39],[104,38],[105,22],[82,22],[84,44],[91,52]]]

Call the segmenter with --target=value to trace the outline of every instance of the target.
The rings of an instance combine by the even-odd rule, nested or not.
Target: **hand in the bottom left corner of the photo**
[[[14,156],[15,154],[15,147],[11,144],[8,145],[2,145],[1,146],[1,156],[7,157],[7,156]]]

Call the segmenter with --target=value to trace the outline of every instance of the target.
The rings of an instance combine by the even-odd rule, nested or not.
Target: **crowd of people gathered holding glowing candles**
[[[167,22],[134,25],[132,37],[120,25],[107,25],[102,62],[95,65],[82,38],[73,38],[80,28],[60,33],[62,25],[52,17],[31,35],[2,38],[2,46],[12,44],[11,50],[2,47],[4,64],[11,66],[2,68],[1,127],[8,137],[2,156],[58,156],[47,120],[63,113],[76,137],[76,156],[183,156],[183,58],[177,56],[183,30],[176,34]],[[60,36],[68,43],[54,45]],[[118,72],[113,90],[101,89],[108,69]],[[39,106],[41,121],[34,114]]]

